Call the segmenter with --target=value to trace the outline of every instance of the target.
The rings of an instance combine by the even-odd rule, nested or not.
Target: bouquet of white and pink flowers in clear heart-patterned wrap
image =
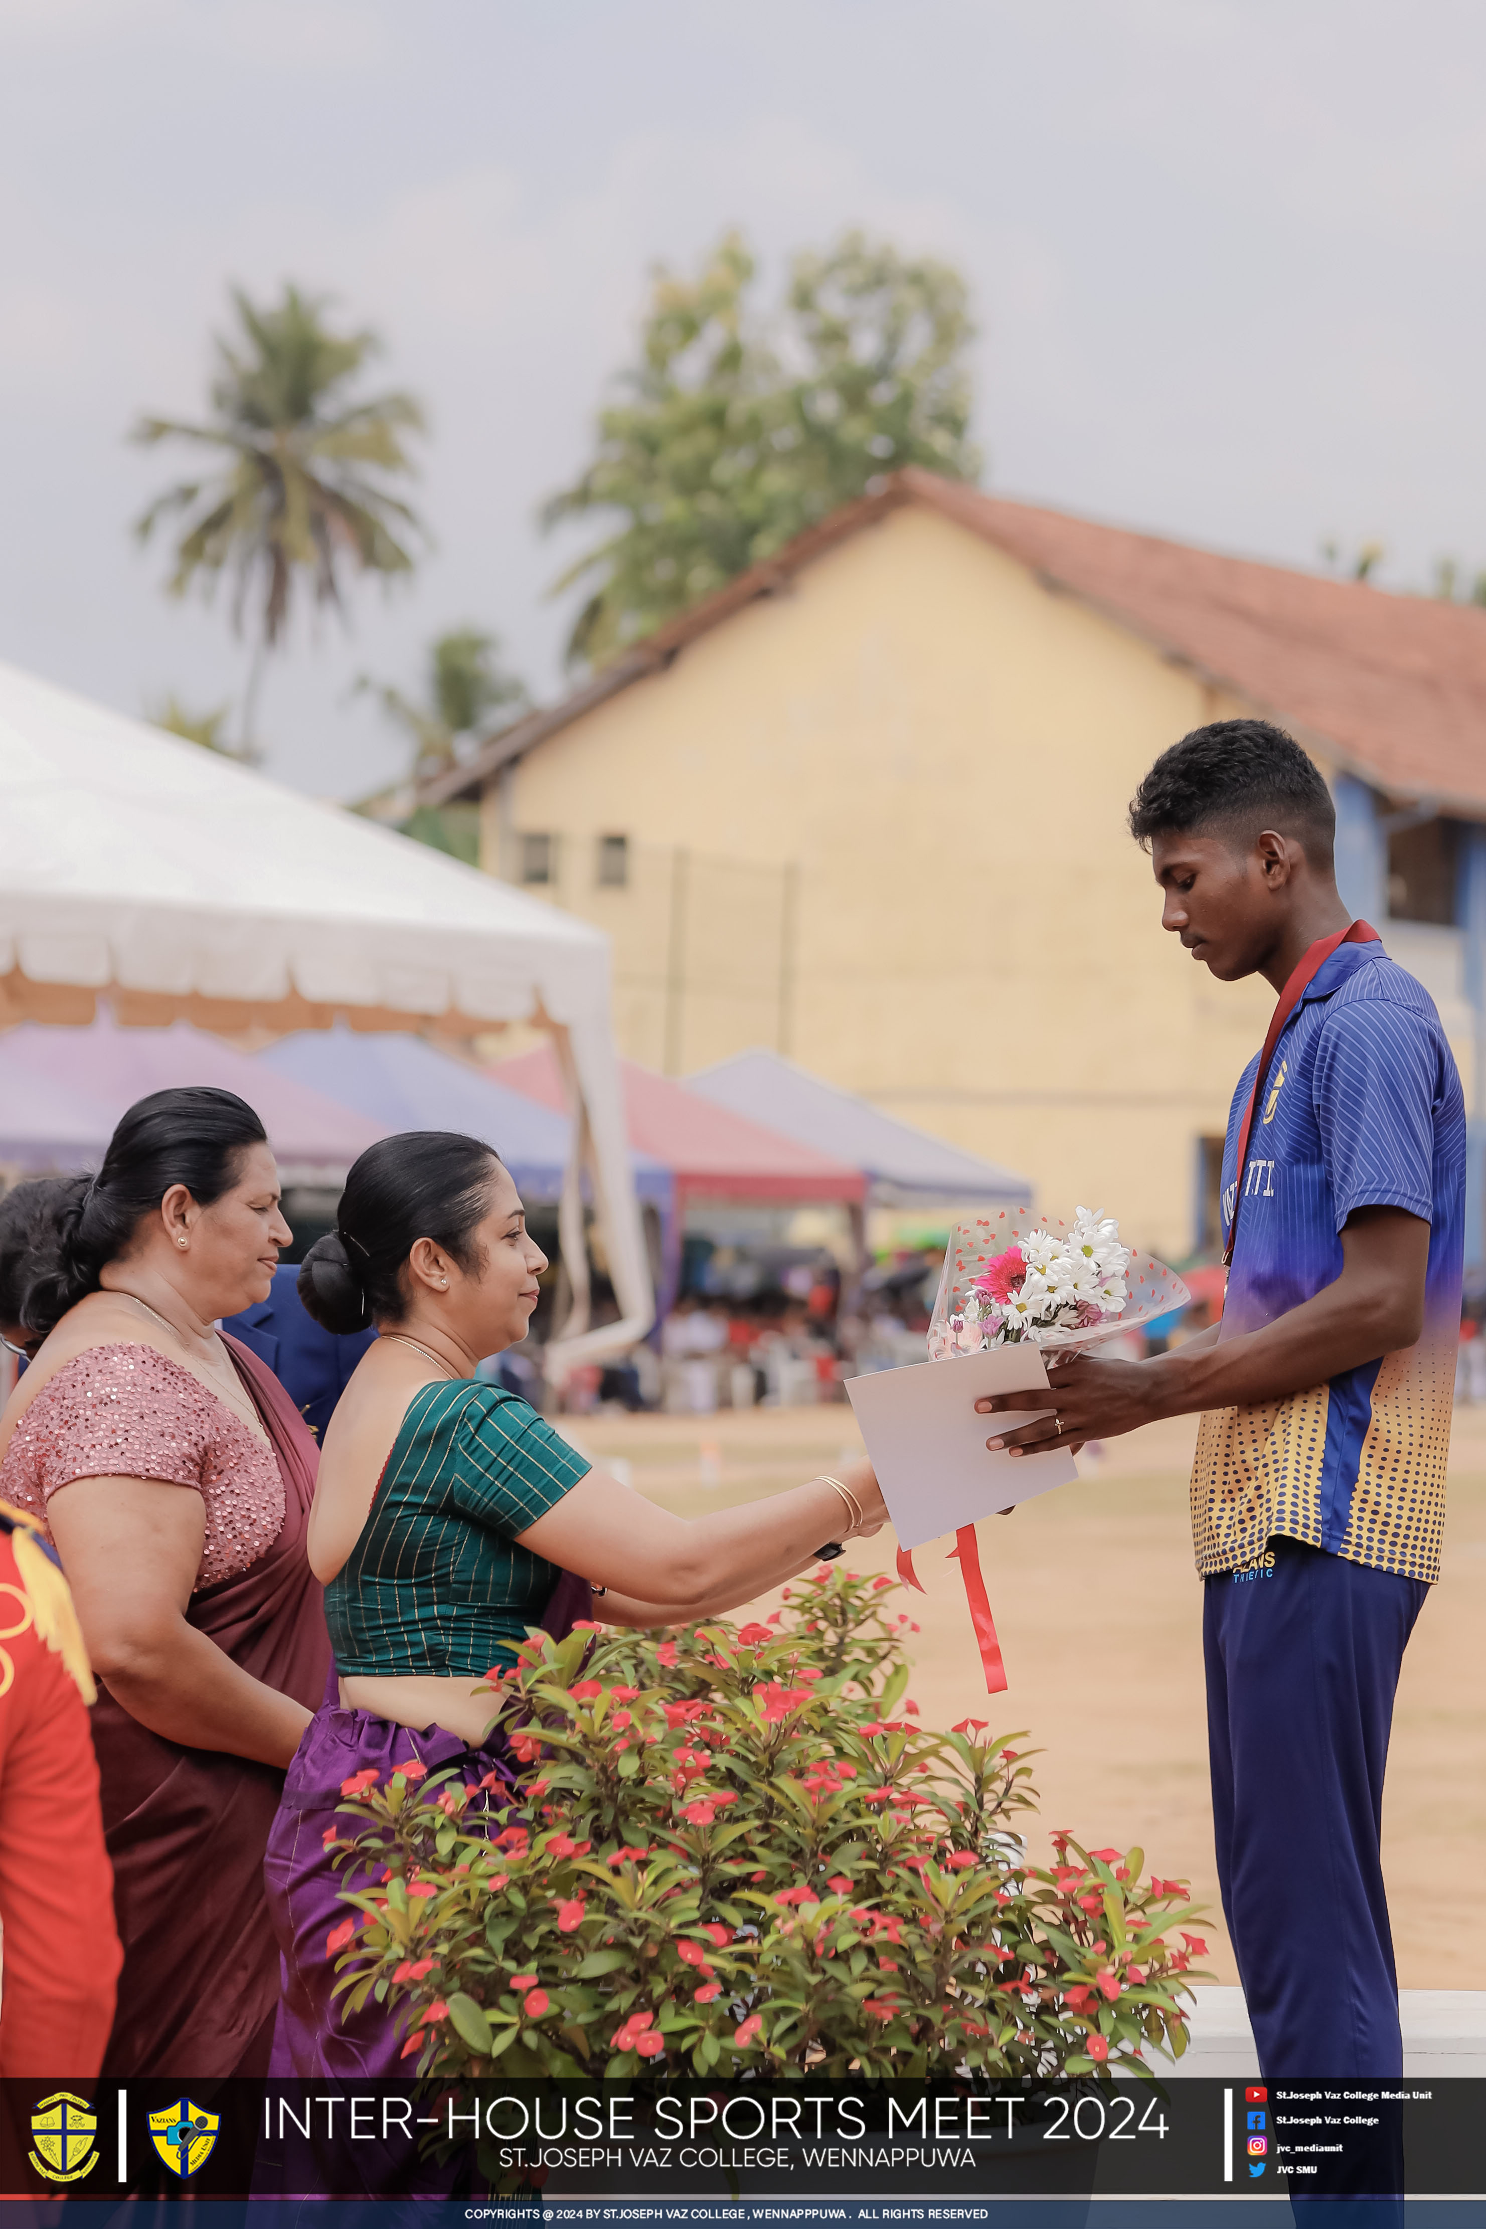
[[[1076,1208],[1072,1217],[1032,1208],[967,1215],[945,1250],[929,1360],[1020,1342],[1078,1353],[1190,1300],[1176,1271],[1125,1246],[1103,1208]]]

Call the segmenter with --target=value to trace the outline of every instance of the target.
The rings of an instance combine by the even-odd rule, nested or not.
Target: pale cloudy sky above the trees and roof
[[[561,687],[581,466],[646,272],[864,225],[974,290],[989,484],[1384,577],[1486,568],[1470,0],[0,0],[0,658],[125,711],[241,691],[129,522],[229,281],[339,299],[428,406],[412,588],[274,662],[270,771],[354,796],[439,629]]]

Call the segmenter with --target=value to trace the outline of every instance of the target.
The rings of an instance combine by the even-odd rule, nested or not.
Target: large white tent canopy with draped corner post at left
[[[98,992],[125,1023],[187,1019],[227,1032],[339,1014],[374,1030],[548,1028],[624,1317],[564,1340],[557,1360],[648,1328],[608,938],[426,845],[0,664],[0,1025],[87,1021]],[[564,1253],[581,1230],[577,1170],[570,1210]]]

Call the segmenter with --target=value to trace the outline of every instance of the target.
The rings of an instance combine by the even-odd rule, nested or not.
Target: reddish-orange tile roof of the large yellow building
[[[499,765],[657,673],[697,635],[905,504],[927,504],[994,542],[1049,588],[1103,611],[1379,789],[1486,814],[1486,611],[1098,526],[918,468],[889,475],[878,493],[798,535],[423,796],[468,796]]]

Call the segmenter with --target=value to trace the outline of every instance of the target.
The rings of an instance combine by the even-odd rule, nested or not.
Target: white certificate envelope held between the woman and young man
[[[1078,1467],[1065,1447],[1047,1456],[989,1453],[987,1440],[1016,1431],[1052,1409],[1038,1346],[989,1346],[949,1362],[911,1362],[847,1380],[867,1458],[878,1473],[898,1547],[922,1547],[942,1534],[1065,1487]],[[1027,1393],[1027,1409],[976,1415],[982,1393]]]

